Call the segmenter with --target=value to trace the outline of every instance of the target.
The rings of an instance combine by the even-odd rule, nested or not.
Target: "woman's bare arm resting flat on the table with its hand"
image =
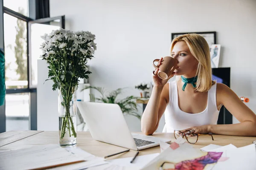
[[[203,125],[190,127],[186,130],[195,129],[195,133],[215,133],[233,136],[256,136],[256,115],[248,108],[241,99],[229,87],[217,84],[217,101],[227,108],[230,113],[241,123],[231,125]]]

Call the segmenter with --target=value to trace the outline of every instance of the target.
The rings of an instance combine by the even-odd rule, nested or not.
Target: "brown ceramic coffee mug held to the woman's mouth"
[[[160,59],[154,59],[153,65],[155,68],[158,68],[154,62],[158,62]],[[174,72],[175,68],[177,67],[177,60],[166,56],[163,58],[162,64],[159,66],[158,77],[161,79],[168,79],[169,76]]]

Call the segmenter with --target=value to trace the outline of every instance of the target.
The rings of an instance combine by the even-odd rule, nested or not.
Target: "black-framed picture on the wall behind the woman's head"
[[[208,42],[209,47],[212,46],[212,44],[216,44],[216,31],[212,32],[183,32],[183,33],[172,33],[171,39],[175,39],[176,37],[183,35],[183,34],[199,34],[204,37],[204,39]]]

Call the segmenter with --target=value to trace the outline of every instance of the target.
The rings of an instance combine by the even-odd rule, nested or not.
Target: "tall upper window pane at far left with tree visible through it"
[[[27,88],[26,22],[4,14],[6,88]]]

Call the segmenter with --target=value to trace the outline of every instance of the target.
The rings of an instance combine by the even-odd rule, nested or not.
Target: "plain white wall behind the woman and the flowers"
[[[66,28],[96,34],[90,84],[110,90],[151,81],[151,62],[169,55],[174,32],[217,31],[219,67],[231,67],[231,88],[256,113],[256,0],[50,0],[50,16]],[[137,118],[126,118],[139,131]],[[236,121],[235,121],[236,122]]]

